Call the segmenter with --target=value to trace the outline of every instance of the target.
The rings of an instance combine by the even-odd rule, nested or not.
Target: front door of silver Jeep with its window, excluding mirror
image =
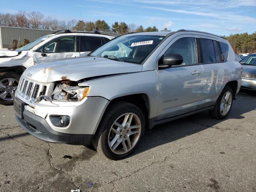
[[[185,114],[197,109],[202,92],[203,68],[198,63],[196,35],[182,35],[170,41],[160,53],[180,54],[183,63],[158,69],[159,105],[156,120]]]

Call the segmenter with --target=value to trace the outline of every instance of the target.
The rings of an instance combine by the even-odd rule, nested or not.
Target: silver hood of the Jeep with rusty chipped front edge
[[[95,76],[140,72],[142,68],[139,64],[86,57],[38,64],[27,68],[23,75],[31,80],[46,83],[62,79],[78,81]]]

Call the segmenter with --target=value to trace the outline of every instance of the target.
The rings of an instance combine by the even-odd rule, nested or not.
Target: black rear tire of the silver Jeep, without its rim
[[[229,111],[226,113],[226,115],[222,115],[221,112],[220,112],[220,106],[221,106],[221,101],[222,101],[222,97],[227,93],[227,92],[230,92],[231,95],[232,95],[232,102],[231,102],[231,105],[230,105],[230,109]],[[229,86],[225,86],[224,89],[222,90],[220,96],[218,97],[217,101],[216,101],[216,104],[214,106],[214,109],[213,110],[210,110],[209,113],[210,115],[212,116],[212,118],[214,119],[224,119],[228,116],[231,108],[232,108],[232,105],[233,105],[233,98],[234,98],[234,94],[233,94],[233,90],[232,88],[230,88]]]

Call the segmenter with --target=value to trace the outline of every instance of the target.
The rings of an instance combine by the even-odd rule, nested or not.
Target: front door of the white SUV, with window
[[[59,37],[33,52],[34,64],[79,57],[80,54],[76,50],[76,36]]]

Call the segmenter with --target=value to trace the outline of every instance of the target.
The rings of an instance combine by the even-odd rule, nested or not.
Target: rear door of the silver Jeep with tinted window
[[[199,108],[214,105],[221,92],[226,64],[222,54],[220,43],[217,39],[198,36],[200,42],[201,62],[204,68],[202,96],[204,103]],[[226,56],[227,57],[227,56]],[[227,59],[227,58],[226,58]]]

